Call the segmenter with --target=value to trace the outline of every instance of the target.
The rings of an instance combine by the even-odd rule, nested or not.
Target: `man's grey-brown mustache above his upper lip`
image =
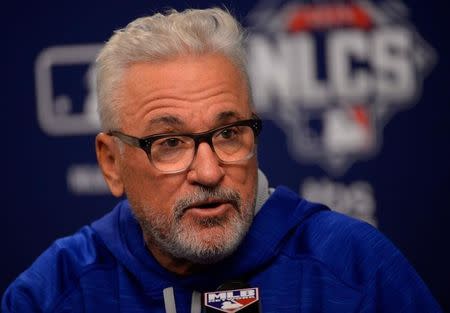
[[[174,204],[174,216],[176,220],[179,220],[184,212],[193,204],[198,202],[210,201],[213,199],[218,202],[229,202],[240,213],[241,211],[241,196],[232,189],[215,187],[199,187],[197,191],[186,196],[182,196],[175,201]]]

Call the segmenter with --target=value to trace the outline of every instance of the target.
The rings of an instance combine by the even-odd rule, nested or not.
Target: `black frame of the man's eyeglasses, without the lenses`
[[[136,148],[141,148],[147,154],[147,157],[148,157],[150,163],[152,163],[152,165],[155,166],[153,164],[152,157],[151,157],[151,148],[152,148],[152,144],[156,140],[161,139],[161,138],[166,138],[166,137],[173,137],[173,136],[189,137],[189,138],[192,138],[194,140],[194,143],[195,143],[195,147],[194,147],[194,151],[195,152],[194,152],[194,156],[193,156],[192,160],[194,160],[195,155],[197,154],[198,146],[202,142],[208,143],[209,146],[211,147],[211,150],[214,151],[214,153],[217,156],[217,153],[214,150],[214,145],[213,145],[213,142],[212,142],[213,135],[216,134],[217,132],[221,131],[221,130],[227,129],[229,127],[234,127],[234,126],[249,126],[253,130],[253,134],[255,136],[255,147],[256,147],[256,144],[258,142],[258,135],[259,135],[259,133],[261,132],[261,129],[262,129],[262,121],[256,114],[252,114],[252,118],[251,119],[237,121],[237,122],[230,123],[230,124],[227,124],[227,125],[224,125],[224,126],[220,126],[220,127],[217,127],[217,128],[213,128],[211,130],[208,130],[208,131],[205,131],[205,132],[201,132],[201,133],[164,133],[164,134],[155,134],[155,135],[150,135],[150,136],[139,138],[139,137],[134,137],[134,136],[131,136],[131,135],[127,135],[127,134],[122,133],[121,131],[118,131],[118,130],[110,130],[110,131],[107,132],[107,135],[117,137],[120,140],[122,140],[124,143],[126,143],[126,144],[128,144],[130,146],[133,146],[133,147],[136,147]],[[253,155],[254,154],[249,155],[248,158],[251,158]],[[231,161],[230,162],[230,161],[223,161],[223,160],[221,160],[219,156],[217,156],[217,158],[224,164],[231,164],[231,163],[242,162],[242,161],[246,160],[246,159],[244,159],[244,160]],[[155,168],[157,168],[157,167],[155,166]],[[185,169],[175,170],[173,172],[165,172],[165,171],[163,171],[163,172],[165,172],[165,173],[176,173],[176,172],[181,172],[181,171],[184,171],[184,170]]]

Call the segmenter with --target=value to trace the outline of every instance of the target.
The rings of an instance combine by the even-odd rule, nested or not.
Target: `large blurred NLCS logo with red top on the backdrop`
[[[379,150],[435,54],[400,1],[305,2],[265,1],[249,15],[254,102],[285,131],[294,158],[340,175]]]

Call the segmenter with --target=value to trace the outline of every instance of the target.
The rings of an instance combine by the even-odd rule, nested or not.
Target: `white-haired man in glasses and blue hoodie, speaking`
[[[200,312],[201,293],[232,280],[258,287],[266,313],[440,312],[377,230],[268,188],[243,32],[227,12],[140,18],[97,66],[97,157],[127,200],[56,241],[2,312]]]

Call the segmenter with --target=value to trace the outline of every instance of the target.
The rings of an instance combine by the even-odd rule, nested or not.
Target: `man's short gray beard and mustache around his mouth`
[[[211,198],[229,202],[235,210],[227,211],[224,216],[196,218],[189,224],[183,223],[187,207]],[[155,208],[133,207],[146,241],[151,241],[174,259],[213,264],[231,255],[247,234],[254,216],[255,199],[251,203],[242,203],[241,196],[234,190],[201,187],[175,201],[171,216]],[[208,228],[215,229],[208,233]]]

